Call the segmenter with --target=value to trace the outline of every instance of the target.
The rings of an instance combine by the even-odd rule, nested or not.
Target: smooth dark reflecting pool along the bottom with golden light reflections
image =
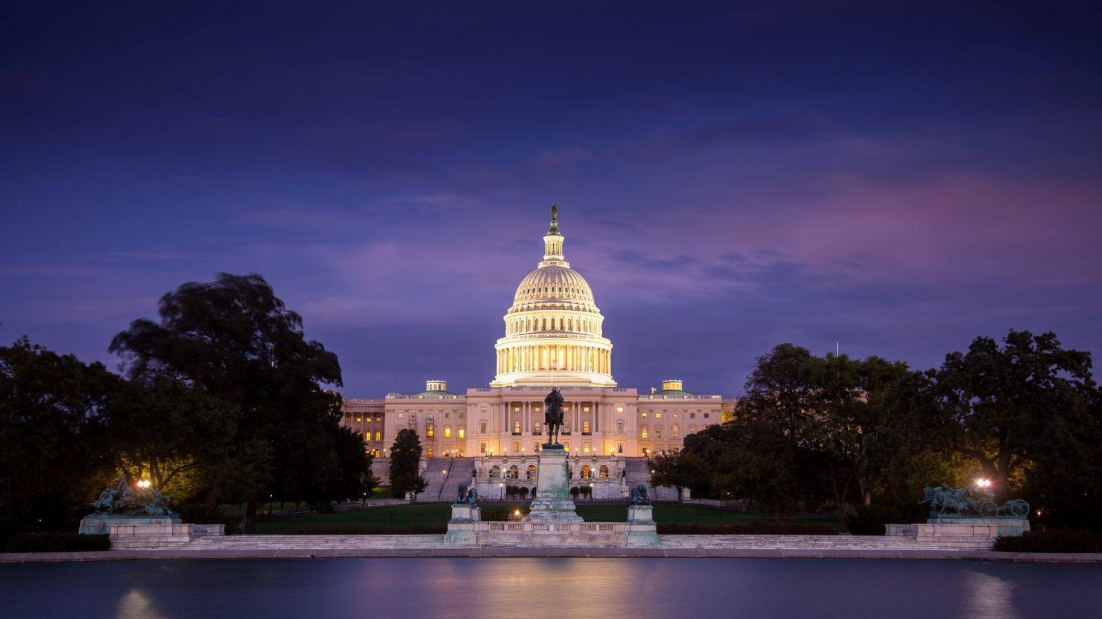
[[[544,593],[550,588],[550,593]],[[1098,617],[1102,565],[315,558],[0,565],[2,617]]]

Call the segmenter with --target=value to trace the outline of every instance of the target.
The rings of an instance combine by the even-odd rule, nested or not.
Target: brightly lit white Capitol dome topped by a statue
[[[615,387],[612,341],[602,337],[604,316],[593,290],[570,268],[559,232],[558,208],[543,237],[543,260],[528,273],[504,316],[497,340],[497,374],[491,387],[586,384]]]

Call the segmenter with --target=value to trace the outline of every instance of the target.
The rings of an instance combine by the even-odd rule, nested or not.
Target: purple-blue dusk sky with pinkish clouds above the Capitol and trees
[[[0,341],[257,272],[346,397],[486,387],[552,203],[622,387],[1102,354],[1098,2],[4,2]]]

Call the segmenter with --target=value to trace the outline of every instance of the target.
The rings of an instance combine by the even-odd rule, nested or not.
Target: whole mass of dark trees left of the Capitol
[[[0,537],[73,530],[123,470],[193,519],[220,503],[360,498],[376,484],[363,437],[341,427],[334,354],[259,275],[223,273],[165,294],[160,319],[110,344],[125,376],[26,338],[0,347]]]

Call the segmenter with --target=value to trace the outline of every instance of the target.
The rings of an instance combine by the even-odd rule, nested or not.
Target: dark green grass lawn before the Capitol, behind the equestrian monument
[[[503,501],[483,503],[483,511],[520,509],[527,511],[527,501]],[[583,520],[594,522],[624,522],[627,519],[627,504],[577,504],[577,514]],[[287,515],[258,514],[257,533],[282,533],[288,529],[303,525],[322,526],[386,526],[400,531],[410,526],[425,526],[447,522],[452,508],[447,503],[423,503],[412,506],[392,506],[361,510],[338,511],[334,513],[294,513]],[[692,524],[748,524],[753,520],[768,520],[765,514],[742,512],[703,506],[678,506],[659,503],[655,506],[655,521],[659,523],[692,523]],[[776,519],[774,519],[776,520]],[[830,519],[788,519],[791,523],[825,524],[838,528],[836,520]]]

